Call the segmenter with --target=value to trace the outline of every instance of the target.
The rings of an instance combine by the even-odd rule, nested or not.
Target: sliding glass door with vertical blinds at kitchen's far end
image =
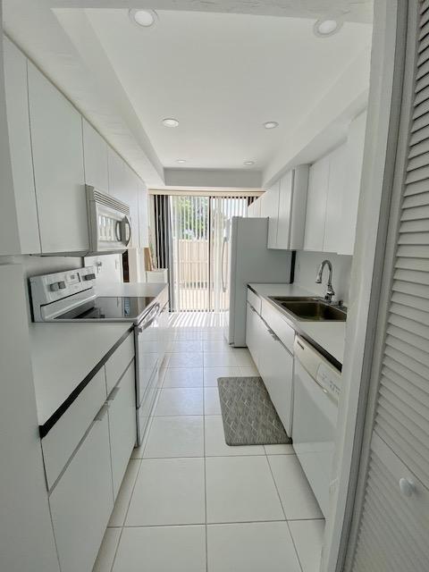
[[[226,227],[232,216],[246,216],[248,200],[190,195],[168,200],[164,236],[169,237],[172,310],[221,311],[227,302],[223,291]]]

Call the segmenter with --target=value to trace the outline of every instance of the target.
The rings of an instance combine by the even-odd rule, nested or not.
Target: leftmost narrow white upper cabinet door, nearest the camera
[[[29,136],[27,58],[5,37],[4,84],[20,244],[17,246],[2,244],[2,253],[38,254],[40,237]]]

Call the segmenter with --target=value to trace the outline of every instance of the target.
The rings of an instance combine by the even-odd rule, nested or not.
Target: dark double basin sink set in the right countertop
[[[307,322],[345,322],[345,307],[338,307],[315,297],[270,296],[269,299],[286,314]]]

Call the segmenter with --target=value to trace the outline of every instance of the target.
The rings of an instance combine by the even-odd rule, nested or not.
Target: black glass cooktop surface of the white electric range
[[[106,320],[133,322],[139,318],[155,297],[100,296],[75,307],[56,320]]]

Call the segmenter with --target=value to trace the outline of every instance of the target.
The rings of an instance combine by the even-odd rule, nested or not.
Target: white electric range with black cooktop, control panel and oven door
[[[166,351],[168,286],[150,296],[98,296],[93,266],[29,279],[34,322],[129,322],[134,329],[136,416],[142,442]],[[153,285],[151,285],[153,286]],[[141,290],[141,289],[140,289]],[[143,289],[144,290],[144,289]]]

